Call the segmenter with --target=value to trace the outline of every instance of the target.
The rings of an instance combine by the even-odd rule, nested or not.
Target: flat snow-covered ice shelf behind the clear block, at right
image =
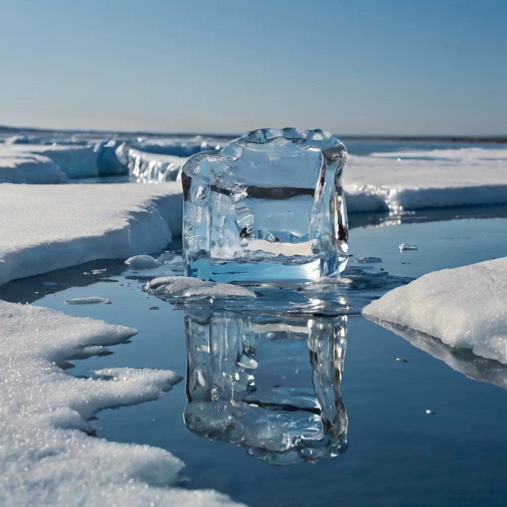
[[[349,155],[349,213],[507,203],[507,150],[462,148]]]

